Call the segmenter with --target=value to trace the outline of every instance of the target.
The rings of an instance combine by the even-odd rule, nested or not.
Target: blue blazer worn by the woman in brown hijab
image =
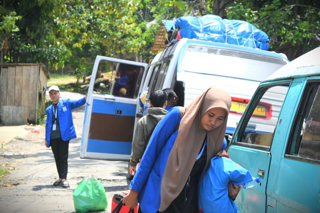
[[[160,207],[161,181],[165,164],[178,135],[180,108],[173,107],[157,124],[153,131],[140,166],[129,185],[139,192],[138,202],[144,213],[155,213]],[[222,148],[225,149],[227,141]]]

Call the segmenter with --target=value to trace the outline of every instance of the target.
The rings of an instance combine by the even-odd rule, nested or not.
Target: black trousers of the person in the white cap
[[[56,161],[59,178],[67,179],[69,141],[63,141],[61,138],[51,139],[50,146]]]

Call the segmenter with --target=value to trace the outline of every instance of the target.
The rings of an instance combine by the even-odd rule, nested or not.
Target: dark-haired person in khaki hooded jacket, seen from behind
[[[153,91],[149,97],[151,107],[147,111],[148,115],[143,116],[138,121],[132,141],[132,152],[129,168],[132,176],[135,174],[136,166],[140,162],[140,159],[147,148],[153,130],[158,122],[168,112],[164,109],[167,105],[167,97],[168,95],[162,90]]]

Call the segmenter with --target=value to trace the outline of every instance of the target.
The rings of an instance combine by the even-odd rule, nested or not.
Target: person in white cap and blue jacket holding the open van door
[[[51,146],[59,174],[59,179],[53,186],[61,185],[63,188],[68,188],[70,187],[67,181],[69,141],[77,137],[72,110],[84,105],[86,96],[77,101],[60,99],[57,86],[49,88],[49,96],[53,103],[46,109],[45,146],[47,148]]]

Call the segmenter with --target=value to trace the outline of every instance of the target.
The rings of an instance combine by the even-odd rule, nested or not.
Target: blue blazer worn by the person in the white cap
[[[85,97],[74,101],[70,99],[59,99],[58,104],[58,118],[60,125],[61,138],[63,141],[69,141],[76,138],[76,130],[73,126],[72,110],[85,104]],[[52,126],[53,104],[50,105],[45,111],[47,120],[45,122],[45,140],[47,145],[50,145],[50,133]]]

